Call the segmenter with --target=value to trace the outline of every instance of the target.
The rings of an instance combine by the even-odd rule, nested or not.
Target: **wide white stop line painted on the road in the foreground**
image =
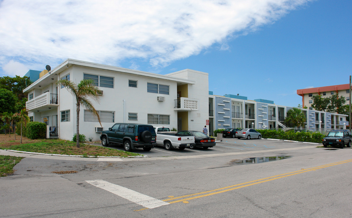
[[[152,198],[148,195],[141,194],[139,192],[133,191],[131,189],[128,189],[119,185],[115,185],[113,183],[110,183],[104,180],[87,180],[86,182],[98,188],[102,188],[113,194],[116,194],[129,201],[132,201],[133,203],[142,205],[143,207],[146,207],[146,208],[156,208],[156,207],[170,204],[165,201]]]

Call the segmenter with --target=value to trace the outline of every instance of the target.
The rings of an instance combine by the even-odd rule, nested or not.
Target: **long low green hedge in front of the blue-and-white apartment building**
[[[325,137],[319,132],[295,132],[293,130],[290,131],[282,131],[282,130],[257,130],[262,134],[263,138],[273,138],[273,139],[283,139],[283,140],[292,140],[298,142],[314,142],[314,143],[322,143],[323,138]]]

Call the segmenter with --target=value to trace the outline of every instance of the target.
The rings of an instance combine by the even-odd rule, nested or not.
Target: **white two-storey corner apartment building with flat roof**
[[[67,59],[24,89],[26,108],[33,121],[48,125],[50,137],[71,140],[76,132],[76,99],[59,79],[79,83],[94,80],[102,91],[93,102],[101,124],[92,113],[80,108],[80,133],[93,141],[114,123],[144,123],[178,130],[199,130],[208,116],[208,74],[185,69],[160,75],[103,64]]]

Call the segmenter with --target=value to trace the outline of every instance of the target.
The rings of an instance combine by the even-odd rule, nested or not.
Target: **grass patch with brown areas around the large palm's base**
[[[20,144],[13,142],[2,142],[0,143],[0,149],[17,150],[17,151],[29,151],[38,152],[45,154],[62,154],[62,155],[83,155],[88,156],[138,156],[140,154],[120,151],[116,149],[100,147],[97,145],[80,144],[80,148],[76,147],[76,142],[65,141],[62,139],[26,139],[25,143]]]

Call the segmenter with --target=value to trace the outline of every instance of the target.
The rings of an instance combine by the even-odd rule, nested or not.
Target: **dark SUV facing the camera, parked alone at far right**
[[[338,146],[339,148],[344,148],[347,145],[351,148],[352,136],[349,130],[331,130],[328,135],[323,138],[323,145],[326,148],[330,146]]]

